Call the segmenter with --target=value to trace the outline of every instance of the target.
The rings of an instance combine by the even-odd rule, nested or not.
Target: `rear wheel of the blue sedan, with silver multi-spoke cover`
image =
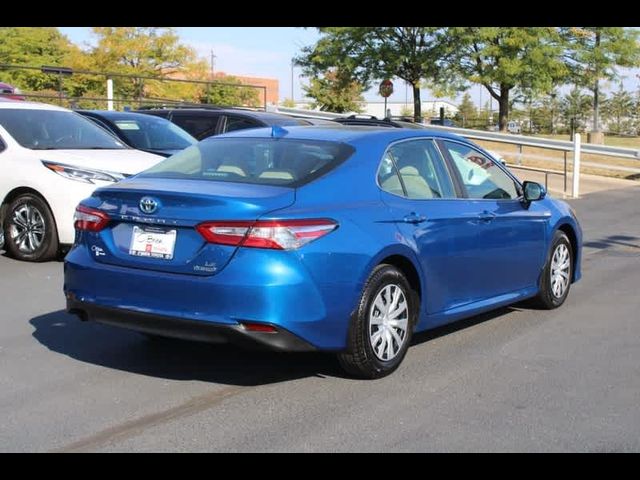
[[[384,377],[397,369],[411,342],[416,303],[400,270],[376,267],[351,320],[347,350],[338,354],[342,367],[361,378]]]

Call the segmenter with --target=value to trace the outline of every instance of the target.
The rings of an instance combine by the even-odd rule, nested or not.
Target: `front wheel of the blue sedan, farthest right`
[[[569,295],[573,278],[573,249],[566,233],[558,230],[551,243],[547,264],[542,272],[536,303],[546,309],[558,308]]]

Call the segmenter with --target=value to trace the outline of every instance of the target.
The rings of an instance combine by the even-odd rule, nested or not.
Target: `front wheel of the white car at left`
[[[44,262],[58,252],[58,232],[53,214],[37,195],[24,194],[7,208],[4,219],[5,248],[18,260]]]

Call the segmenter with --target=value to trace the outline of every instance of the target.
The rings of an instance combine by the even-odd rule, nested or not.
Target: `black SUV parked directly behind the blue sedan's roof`
[[[234,130],[271,127],[273,125],[311,125],[311,122],[279,113],[239,108],[149,108],[138,113],[155,115],[172,121],[198,140]]]

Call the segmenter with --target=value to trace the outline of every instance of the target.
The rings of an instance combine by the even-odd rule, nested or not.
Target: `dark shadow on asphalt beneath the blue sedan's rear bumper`
[[[81,362],[171,380],[256,386],[306,377],[342,377],[337,360],[321,353],[278,353],[220,344],[150,339],[137,332],[81,322],[63,310],[30,320],[33,337]]]

